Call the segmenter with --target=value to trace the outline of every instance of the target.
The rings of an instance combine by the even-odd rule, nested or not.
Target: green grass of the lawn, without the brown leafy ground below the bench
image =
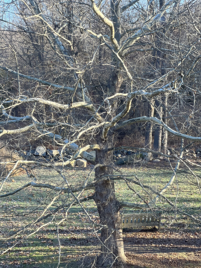
[[[77,186],[83,183],[88,176],[90,170],[87,168],[81,170],[79,168],[66,168],[63,170],[63,174],[72,186]],[[169,181],[172,176],[171,170],[161,168],[120,168],[115,174],[122,173],[123,175],[132,176],[130,178],[140,179],[141,183],[150,185],[157,191],[163,188],[163,186]],[[199,171],[194,171],[197,176],[200,176]],[[48,168],[35,169],[37,175],[37,183],[49,183],[55,186],[66,187],[66,183],[63,178],[58,175],[55,170]],[[89,178],[92,181],[94,174]],[[198,178],[200,181],[200,178]],[[3,193],[11,192],[22,185],[30,181],[27,176],[15,176],[10,177],[6,181]],[[177,195],[178,184],[178,195]],[[165,193],[165,196],[175,203],[177,196],[177,208],[192,215],[201,215],[200,208],[200,193],[197,187],[195,177],[189,174],[188,170],[179,170],[174,184]],[[143,196],[143,198],[149,202],[150,196],[142,191],[140,186],[135,184],[129,184],[137,193]],[[129,201],[133,203],[141,203],[140,200],[128,185],[124,181],[115,182],[116,195],[120,201]],[[91,195],[93,190],[88,190],[83,193],[82,197]],[[44,208],[49,204],[50,200],[55,196],[55,192],[46,188],[34,188],[28,187],[15,195],[8,196],[0,199],[0,248],[5,250],[15,242],[15,239],[5,240],[8,233],[13,232],[31,224],[34,219],[39,217]],[[153,195],[154,197],[154,195]],[[59,198],[48,210],[55,209],[55,206],[63,203],[72,202],[73,197],[68,194],[60,195]],[[90,214],[91,219],[94,221],[95,228],[98,229],[98,212],[94,201],[83,202],[83,207]],[[163,211],[162,224],[163,230],[181,230],[185,227],[191,231],[199,231],[200,226],[191,221],[185,215],[179,213],[175,215],[174,209],[163,199],[159,199],[157,202],[156,210]],[[34,211],[33,211],[34,210]],[[33,212],[31,212],[33,211]],[[122,209],[122,213],[132,213],[132,209]],[[136,211],[135,211],[136,212]],[[138,211],[140,212],[140,211]],[[142,212],[142,211],[141,211]],[[64,217],[64,211],[60,211],[55,216],[53,222],[42,228],[38,233],[25,239],[22,243],[17,244],[5,255],[0,257],[0,267],[56,267],[58,262],[58,239],[57,239],[57,222]],[[45,214],[46,215],[46,214]],[[45,219],[43,223],[47,222]],[[30,230],[35,230],[39,227],[32,226]],[[22,239],[30,230],[20,233],[17,239]],[[93,227],[90,220],[86,217],[81,207],[73,206],[68,212],[68,219],[59,225],[59,238],[61,240],[61,265],[60,267],[78,267],[82,263],[83,257],[89,252],[90,256],[95,256],[99,251],[98,240],[93,233]],[[79,264],[79,265],[78,265]],[[4,265],[4,266],[3,266]],[[10,265],[10,266],[9,266]],[[66,266],[67,265],[67,266]],[[190,265],[190,263],[189,263]],[[185,266],[191,267],[191,266]]]

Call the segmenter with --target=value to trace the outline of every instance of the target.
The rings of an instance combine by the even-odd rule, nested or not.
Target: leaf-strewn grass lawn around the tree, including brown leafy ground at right
[[[72,186],[77,186],[85,180],[90,172],[90,166],[86,169],[65,168],[62,173]],[[34,170],[37,181],[36,183],[48,183],[55,186],[66,187],[63,178],[53,169],[37,168]],[[194,171],[198,176],[201,173]],[[150,185],[159,191],[165,186],[172,176],[170,169],[162,169],[154,166],[141,166],[133,168],[118,168],[116,174],[137,176],[142,184]],[[89,181],[93,180],[94,174],[91,175]],[[11,192],[22,185],[28,183],[30,178],[27,176],[9,177],[6,181],[1,194]],[[129,201],[133,203],[141,203],[136,194],[131,190],[143,196],[149,202],[151,197],[145,193],[140,186],[135,184],[126,185],[125,181],[116,181],[116,195],[120,201]],[[91,195],[93,190],[85,191],[82,197]],[[59,195],[52,206],[48,207],[49,202],[54,198],[55,192],[46,188],[28,187],[15,195],[3,197],[0,199],[0,249],[1,252],[6,248],[13,246],[10,251],[4,255],[0,255],[0,268],[5,267],[57,267],[59,255],[59,243],[61,245],[61,256],[59,267],[90,267],[93,263],[99,247],[98,230],[98,212],[94,201],[83,202],[84,209],[88,212],[91,220],[94,222],[92,226],[89,218],[86,216],[80,206],[73,206],[67,213],[66,221],[62,222],[58,227],[57,222],[65,215],[65,210],[61,210],[50,217],[52,222],[48,226],[44,226],[38,232],[21,241],[30,231],[34,232],[41,227],[42,223],[47,223],[49,219],[31,226],[46,208],[44,215],[61,204],[69,204],[73,197],[65,193]],[[193,177],[189,170],[181,168],[177,173],[177,179],[174,184],[165,193],[165,196],[179,210],[188,214],[200,217],[201,198],[197,186],[197,180]],[[154,196],[153,196],[154,197]],[[157,232],[154,229],[144,228],[124,230],[124,247],[126,257],[128,259],[128,267],[146,268],[146,267],[201,267],[201,231],[196,222],[193,222],[182,213],[175,214],[173,209],[167,202],[158,199],[156,210],[163,211],[162,229]],[[122,213],[133,213],[132,209],[124,208]],[[143,211],[135,211],[143,212]],[[8,233],[24,228],[30,224],[30,228],[22,230],[22,232],[13,239],[6,239]],[[59,240],[58,240],[59,236]]]

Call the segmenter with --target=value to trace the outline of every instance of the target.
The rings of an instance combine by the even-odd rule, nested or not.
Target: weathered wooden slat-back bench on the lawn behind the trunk
[[[140,213],[121,215],[121,227],[135,228],[142,226],[158,226],[161,230],[161,213]]]

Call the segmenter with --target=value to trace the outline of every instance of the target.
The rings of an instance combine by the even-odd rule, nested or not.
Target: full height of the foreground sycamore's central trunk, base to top
[[[111,6],[111,21],[114,25],[114,35],[118,42],[121,44],[121,23],[120,23],[120,5],[118,0],[110,2]],[[121,64],[116,59],[115,55],[111,55],[112,67],[109,79],[109,86],[107,88],[107,96],[118,93],[122,84]],[[113,100],[111,105],[110,116],[116,116],[118,102]],[[95,178],[100,178],[104,175],[113,173],[113,169],[106,167],[106,165],[113,165],[113,152],[107,151],[108,148],[113,147],[113,133],[109,130],[106,140],[101,137],[102,130],[97,137],[97,144],[101,147],[96,150],[96,162],[104,166],[98,167],[95,170]],[[101,229],[101,254],[97,258],[97,266],[111,267],[114,263],[126,263],[124,255],[124,243],[121,228],[121,215],[120,215],[120,202],[115,195],[114,181],[100,180],[95,185],[95,198],[96,206],[98,208]]]

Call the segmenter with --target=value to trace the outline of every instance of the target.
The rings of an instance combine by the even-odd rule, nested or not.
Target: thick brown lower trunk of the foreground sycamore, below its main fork
[[[113,135],[108,133],[107,140],[102,140],[98,135],[97,143],[101,150],[96,150],[96,161],[103,165],[113,163],[113,153],[107,148],[113,146]],[[96,168],[95,177],[112,174],[113,169],[106,166]],[[121,228],[120,202],[115,196],[114,181],[109,178],[100,180],[95,185],[95,203],[98,208],[101,229],[101,254],[98,256],[96,264],[99,267],[111,267],[113,263],[126,263],[124,255],[124,244]]]

